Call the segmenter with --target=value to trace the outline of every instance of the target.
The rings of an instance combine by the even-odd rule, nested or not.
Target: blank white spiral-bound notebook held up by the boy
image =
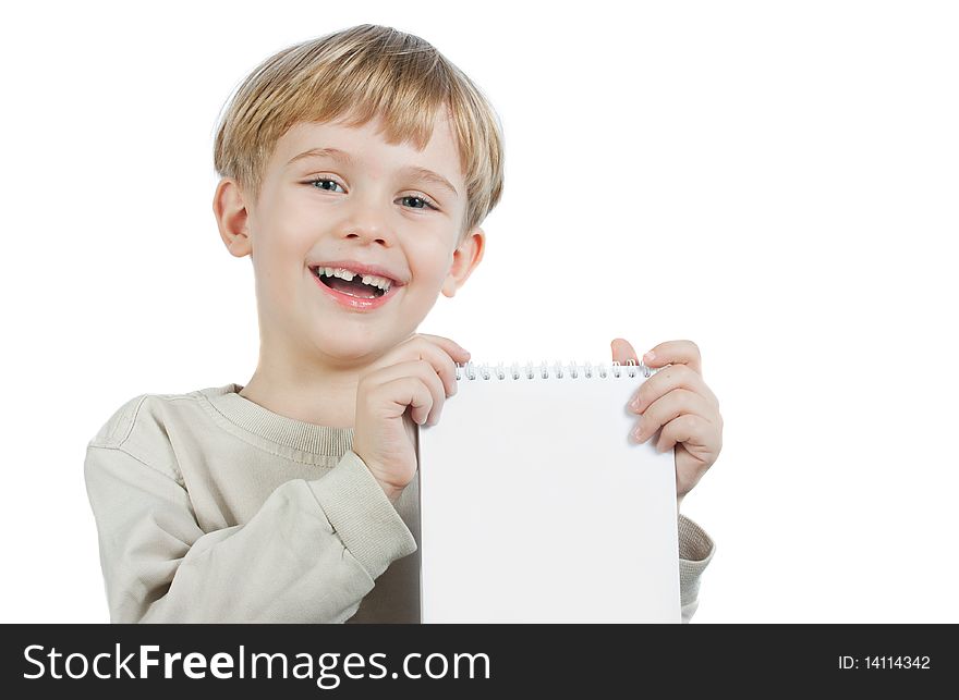
[[[681,622],[673,451],[630,438],[656,371],[457,366],[417,428],[421,622]]]

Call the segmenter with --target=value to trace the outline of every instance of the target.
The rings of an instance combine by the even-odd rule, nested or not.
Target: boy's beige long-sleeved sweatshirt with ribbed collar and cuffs
[[[136,396],[89,442],[111,622],[418,622],[416,479],[391,504],[352,428],[242,389]],[[679,551],[689,622],[715,545],[680,515]]]

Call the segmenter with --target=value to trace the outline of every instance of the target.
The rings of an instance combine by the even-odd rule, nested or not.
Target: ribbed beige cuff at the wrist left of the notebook
[[[410,528],[352,450],[325,477],[308,483],[337,535],[372,578],[416,551]]]

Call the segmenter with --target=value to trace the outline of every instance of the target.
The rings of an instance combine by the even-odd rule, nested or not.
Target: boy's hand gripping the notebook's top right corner
[[[620,365],[633,360],[636,352],[628,341],[611,343],[612,359]],[[692,341],[667,341],[654,347],[654,357],[643,356],[643,364],[656,368],[671,365],[650,377],[633,395],[638,401],[630,410],[642,416],[636,442],[645,442],[660,427],[656,449],[676,447],[677,503],[689,493],[723,449],[723,416],[719,401],[703,381],[700,348]]]

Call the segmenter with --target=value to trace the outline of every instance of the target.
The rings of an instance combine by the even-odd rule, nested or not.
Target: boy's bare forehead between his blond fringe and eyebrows
[[[423,150],[417,150],[410,142],[387,143],[385,135],[380,133],[383,122],[379,118],[362,126],[347,126],[343,121],[347,119],[336,122],[294,124],[277,142],[271,158],[274,169],[306,167],[306,163],[314,159],[302,157],[303,153],[329,148],[345,152],[351,164],[383,175],[411,165],[428,169],[449,180],[459,192],[462,192],[460,185],[463,175],[459,150],[447,116],[437,116],[429,142]],[[291,160],[294,162],[291,163]]]

